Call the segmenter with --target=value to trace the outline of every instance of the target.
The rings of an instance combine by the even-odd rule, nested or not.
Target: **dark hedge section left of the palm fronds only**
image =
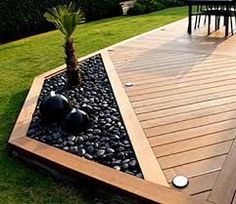
[[[0,41],[47,31],[53,28],[43,17],[47,8],[67,0],[2,0],[0,2]]]

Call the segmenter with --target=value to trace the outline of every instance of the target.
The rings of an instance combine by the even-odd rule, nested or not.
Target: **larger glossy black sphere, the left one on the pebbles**
[[[43,123],[61,122],[71,111],[67,98],[54,91],[46,97],[39,106],[41,120]]]

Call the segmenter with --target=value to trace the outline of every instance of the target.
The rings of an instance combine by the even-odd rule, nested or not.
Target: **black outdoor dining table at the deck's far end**
[[[207,5],[211,6],[225,6],[225,36],[229,34],[229,15],[227,15],[227,11],[230,11],[230,7],[234,0],[189,0],[188,1],[188,34],[192,33],[192,16],[193,16],[193,6],[194,5]]]

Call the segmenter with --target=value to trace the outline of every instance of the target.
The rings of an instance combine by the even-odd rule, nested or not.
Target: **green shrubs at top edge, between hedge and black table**
[[[160,0],[137,0],[134,7],[128,10],[128,15],[150,13],[164,8],[166,6]]]

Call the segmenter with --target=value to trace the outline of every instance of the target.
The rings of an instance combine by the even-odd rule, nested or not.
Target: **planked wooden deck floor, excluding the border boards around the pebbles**
[[[185,175],[183,192],[235,203],[236,37],[207,37],[205,29],[189,36],[186,25],[170,24],[108,53],[123,86],[134,84],[126,93],[169,185]]]

